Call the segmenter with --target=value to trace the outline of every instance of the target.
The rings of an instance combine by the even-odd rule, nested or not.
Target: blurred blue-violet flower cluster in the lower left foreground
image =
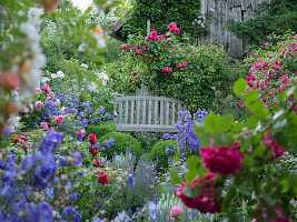
[[[44,191],[48,198],[53,198],[53,183],[60,180],[55,176],[58,165],[53,151],[61,141],[62,133],[50,132],[41,140],[39,149],[33,154],[23,158],[19,168],[14,154],[8,154],[7,160],[0,161],[1,222],[51,222],[53,220],[52,206],[41,196]],[[60,158],[59,161],[61,165],[66,164],[65,158]],[[75,161],[77,165],[81,165],[82,158],[79,152],[75,152]],[[71,188],[71,183],[70,186],[67,185]],[[76,201],[77,195],[70,193],[70,199]],[[72,213],[72,206],[68,208],[63,209],[65,213],[71,213],[72,222],[79,222],[80,213],[77,211]]]

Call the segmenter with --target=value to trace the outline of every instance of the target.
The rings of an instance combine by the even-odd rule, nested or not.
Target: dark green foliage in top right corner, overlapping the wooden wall
[[[263,44],[267,37],[281,36],[287,30],[297,32],[296,0],[273,0],[270,4],[263,3],[254,18],[245,21],[230,21],[227,27],[237,37],[247,39],[250,43]],[[275,42],[276,43],[276,39]]]

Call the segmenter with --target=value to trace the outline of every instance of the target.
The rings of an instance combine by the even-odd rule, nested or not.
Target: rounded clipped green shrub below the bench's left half
[[[140,158],[140,142],[138,142],[132,135],[122,132],[109,132],[99,139],[99,143],[103,145],[105,142],[110,139],[115,140],[113,144],[102,151],[103,155],[106,155],[109,160],[111,160],[115,152],[117,154],[125,154],[128,149],[130,149],[131,153],[136,154],[137,160]]]

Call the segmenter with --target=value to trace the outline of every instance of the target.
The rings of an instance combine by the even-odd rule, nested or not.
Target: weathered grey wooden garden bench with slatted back
[[[187,105],[164,97],[117,97],[113,100],[116,131],[177,132],[178,111]]]

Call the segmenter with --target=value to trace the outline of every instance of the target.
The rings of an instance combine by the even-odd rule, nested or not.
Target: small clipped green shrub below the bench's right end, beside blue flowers
[[[177,143],[177,141],[162,140],[154,145],[150,151],[150,160],[157,164],[156,169],[158,171],[168,168],[168,159],[175,154]],[[171,150],[171,153],[168,152],[167,148]]]

